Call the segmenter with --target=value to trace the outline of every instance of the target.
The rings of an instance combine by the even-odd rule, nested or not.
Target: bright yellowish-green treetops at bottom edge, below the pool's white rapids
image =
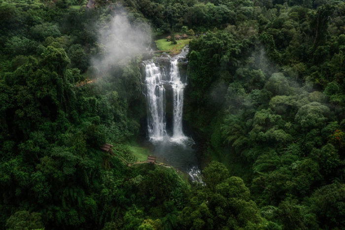
[[[261,219],[255,203],[250,200],[249,189],[241,178],[229,177],[226,173],[220,175],[224,170],[224,165],[213,162],[203,171],[205,181],[211,182],[207,172],[213,172],[216,179],[212,186],[206,184],[192,191],[193,197],[179,216],[186,228],[258,228]]]

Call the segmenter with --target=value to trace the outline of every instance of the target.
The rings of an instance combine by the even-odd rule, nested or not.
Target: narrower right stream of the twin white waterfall
[[[176,141],[185,138],[182,132],[183,90],[185,84],[181,81],[177,64],[177,59],[172,60],[170,64],[170,84],[173,87],[173,139]]]

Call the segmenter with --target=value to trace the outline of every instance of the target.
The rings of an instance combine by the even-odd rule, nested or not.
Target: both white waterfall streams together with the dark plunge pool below
[[[184,83],[186,81],[183,77],[181,78],[178,68],[180,58],[184,57],[170,59],[169,67],[168,60],[163,58],[160,66],[170,68],[168,71],[165,71],[166,67],[157,67],[152,61],[145,62],[148,136],[155,146],[152,154],[157,157],[157,161],[188,173],[192,181],[199,181],[200,170],[193,148],[194,140],[185,136],[182,130],[183,91],[187,84]],[[168,114],[171,112],[170,109],[173,110],[172,135],[169,119],[167,132],[166,102]]]

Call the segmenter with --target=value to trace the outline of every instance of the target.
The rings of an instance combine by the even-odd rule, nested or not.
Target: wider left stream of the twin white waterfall
[[[152,140],[162,140],[167,134],[162,73],[154,63],[148,63],[145,72],[148,135]]]

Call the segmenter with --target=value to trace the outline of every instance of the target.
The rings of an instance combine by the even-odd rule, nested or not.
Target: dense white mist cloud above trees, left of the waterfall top
[[[122,59],[145,52],[150,42],[151,29],[147,23],[138,19],[130,23],[125,12],[117,13],[99,31],[98,43],[102,52],[93,58],[92,63],[104,71]]]

